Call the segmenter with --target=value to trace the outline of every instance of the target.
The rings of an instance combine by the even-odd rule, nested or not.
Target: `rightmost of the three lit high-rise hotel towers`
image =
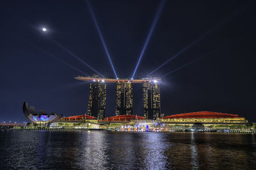
[[[160,86],[157,80],[143,83],[144,116],[147,119],[158,119],[160,115]]]

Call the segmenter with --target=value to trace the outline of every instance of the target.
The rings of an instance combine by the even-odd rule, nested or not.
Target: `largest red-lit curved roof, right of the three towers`
[[[238,115],[232,115],[227,113],[216,113],[211,111],[199,111],[193,113],[181,113],[177,115],[170,115],[165,118],[241,118]]]

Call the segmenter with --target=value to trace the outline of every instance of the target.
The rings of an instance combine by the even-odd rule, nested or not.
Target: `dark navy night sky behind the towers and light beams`
[[[162,1],[89,2],[116,74],[131,78]],[[152,73],[176,70],[161,83],[162,113],[216,111],[256,122],[255,4],[164,2],[134,75],[143,78],[180,52]],[[97,73],[63,48],[115,77],[87,1],[1,1],[0,13],[0,122],[28,121],[24,101],[65,117],[87,111],[88,83],[74,76],[83,76],[76,69]],[[115,95],[115,84],[108,84],[107,117],[115,115]],[[134,114],[143,115],[141,84],[134,84],[133,96]]]

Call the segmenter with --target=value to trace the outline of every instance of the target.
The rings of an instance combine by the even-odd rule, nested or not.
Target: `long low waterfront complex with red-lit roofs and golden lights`
[[[86,128],[93,129],[115,129],[115,131],[246,131],[252,132],[246,127],[248,121],[239,115],[200,111],[195,113],[182,113],[148,120],[137,115],[118,115],[107,117],[102,120],[89,115],[76,115],[65,117],[51,124],[57,128]],[[247,129],[246,129],[247,128]],[[248,129],[249,128],[249,129]],[[227,130],[229,129],[229,130]],[[235,130],[234,130],[235,129]],[[238,130],[237,130],[238,129]],[[245,130],[244,130],[245,129]],[[79,129],[81,130],[81,129]],[[221,131],[222,130],[222,131]]]

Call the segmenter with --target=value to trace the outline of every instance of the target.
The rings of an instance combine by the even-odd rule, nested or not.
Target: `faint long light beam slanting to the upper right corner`
[[[219,27],[221,27],[221,25],[225,25],[226,22],[230,21],[233,17],[235,17],[236,15],[238,15],[241,11],[244,11],[245,7],[243,6],[243,8],[239,8],[238,10],[235,10],[233,13],[231,13],[230,15],[228,15],[227,17],[225,17],[223,20],[221,20],[220,22],[218,22],[218,24],[214,25],[214,27],[212,27],[211,29],[209,29],[209,31],[205,32],[204,34],[202,34],[202,36],[200,36],[199,38],[196,38],[194,41],[192,41],[188,46],[185,46],[184,48],[182,48],[182,50],[180,50],[180,52],[176,53],[175,55],[173,55],[172,57],[170,57],[168,60],[166,60],[165,62],[163,62],[163,64],[161,64],[159,67],[156,67],[156,69],[154,69],[153,71],[151,71],[149,74],[147,74],[147,76],[149,76],[150,74],[154,73],[155,71],[157,71],[158,69],[160,69],[161,67],[163,67],[165,64],[167,64],[168,62],[170,62],[171,60],[175,59],[176,57],[178,57],[180,54],[186,52],[186,50],[188,50],[189,48],[191,48],[192,46],[196,45],[196,43],[198,43],[199,41],[201,41],[202,39],[205,38],[205,36],[211,34],[212,32],[214,32],[216,29],[218,29]]]

